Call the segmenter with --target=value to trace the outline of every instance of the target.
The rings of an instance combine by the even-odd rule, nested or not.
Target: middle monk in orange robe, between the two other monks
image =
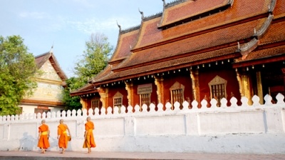
[[[63,119],[59,120],[58,125],[58,147],[62,149],[61,154],[64,154],[68,146],[68,131],[69,136],[71,136],[71,131],[69,131],[68,126],[63,124]]]

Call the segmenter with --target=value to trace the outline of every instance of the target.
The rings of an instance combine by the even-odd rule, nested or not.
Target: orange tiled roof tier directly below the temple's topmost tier
[[[162,17],[144,21],[138,43],[134,49],[140,49],[163,41],[170,41],[171,39],[189,34],[199,34],[209,29],[219,29],[218,27],[224,25],[234,25],[234,22],[267,13],[270,3],[271,0],[252,0],[251,3],[249,3],[248,0],[234,1],[232,8],[222,11],[221,13],[212,14],[202,19],[190,21],[165,30],[157,29],[157,24],[160,23]]]

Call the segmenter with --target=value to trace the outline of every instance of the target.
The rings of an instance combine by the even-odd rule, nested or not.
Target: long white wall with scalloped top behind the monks
[[[264,105],[259,104],[259,97],[254,96],[254,104],[249,106],[248,99],[242,98],[242,106],[237,106],[237,99],[231,99],[232,105],[226,106],[227,100],[222,99],[222,107],[217,107],[217,101],[202,101],[202,108],[197,108],[197,101],[192,101],[192,109],[188,103],[184,108],[171,110],[171,104],[162,111],[154,104],[150,111],[118,114],[118,108],[108,114],[91,116],[95,123],[94,151],[154,151],[154,152],[214,152],[214,153],[255,153],[281,154],[285,151],[285,103],[284,96],[276,96],[277,104],[271,104],[271,96],[265,96]],[[122,106],[125,107],[125,106]],[[131,106],[128,106],[130,110]],[[104,109],[103,109],[104,110]],[[89,113],[93,111],[90,109]],[[104,111],[103,111],[104,112]],[[58,151],[56,139],[59,119],[64,119],[71,129],[72,141],[68,149],[83,151],[83,133],[87,111],[68,111],[63,117],[58,111],[43,114],[46,124],[50,127],[51,147],[49,150]],[[79,116],[76,116],[78,114]],[[81,116],[82,114],[82,116]],[[0,116],[0,150],[38,150],[37,131],[41,124],[41,114],[24,114],[20,116]]]

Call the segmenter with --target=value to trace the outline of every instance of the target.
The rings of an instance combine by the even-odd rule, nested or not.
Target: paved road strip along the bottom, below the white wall
[[[0,151],[0,159],[285,159],[284,154],[192,154],[192,153],[145,153],[145,152],[92,152],[87,154],[83,151],[66,151],[60,154],[57,151]]]

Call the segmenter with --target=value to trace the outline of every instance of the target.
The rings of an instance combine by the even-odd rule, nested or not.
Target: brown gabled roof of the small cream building
[[[48,60],[51,61],[51,65],[53,66],[53,69],[55,69],[56,73],[61,78],[61,80],[66,81],[68,77],[61,69],[61,66],[59,66],[58,61],[56,60],[56,56],[54,56],[53,54],[53,51],[48,51],[44,54],[35,56],[35,61],[36,61],[36,65],[38,66],[38,69],[40,69],[41,66],[43,66],[43,64],[46,63],[46,61]]]

